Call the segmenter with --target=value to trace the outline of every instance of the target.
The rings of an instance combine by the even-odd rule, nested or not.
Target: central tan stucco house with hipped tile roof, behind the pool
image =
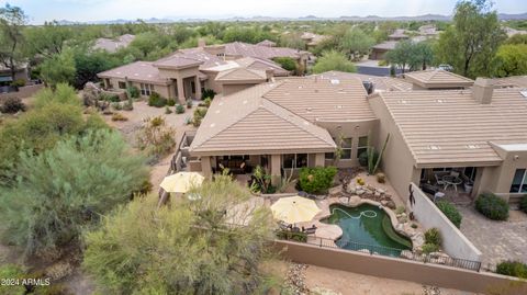
[[[273,183],[302,167],[355,167],[377,125],[359,79],[285,78],[214,99],[190,145],[190,167],[211,177],[260,164]]]

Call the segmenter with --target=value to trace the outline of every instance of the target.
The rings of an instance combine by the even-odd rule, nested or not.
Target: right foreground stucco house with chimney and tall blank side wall
[[[380,120],[378,140],[391,135],[382,168],[401,196],[410,182],[452,171],[473,185],[466,191],[472,196],[527,192],[522,89],[494,89],[491,80],[478,79],[468,90],[380,92],[369,101]]]

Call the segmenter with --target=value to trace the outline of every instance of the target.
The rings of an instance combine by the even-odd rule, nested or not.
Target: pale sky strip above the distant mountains
[[[149,18],[340,16],[451,14],[457,0],[0,0],[32,23]],[[494,0],[503,13],[527,12],[527,0]]]

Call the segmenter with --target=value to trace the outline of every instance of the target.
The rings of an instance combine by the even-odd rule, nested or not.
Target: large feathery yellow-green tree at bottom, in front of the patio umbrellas
[[[83,265],[102,294],[267,293],[270,209],[226,175],[191,193],[158,211],[156,196],[134,200],[87,235]]]

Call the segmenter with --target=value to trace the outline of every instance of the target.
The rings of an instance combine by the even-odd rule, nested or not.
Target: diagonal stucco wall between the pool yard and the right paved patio
[[[445,252],[455,258],[481,261],[482,253],[480,250],[461,234],[417,185],[412,183],[412,189],[414,190],[415,204],[411,209],[414,216],[425,228],[436,227],[439,229]]]

